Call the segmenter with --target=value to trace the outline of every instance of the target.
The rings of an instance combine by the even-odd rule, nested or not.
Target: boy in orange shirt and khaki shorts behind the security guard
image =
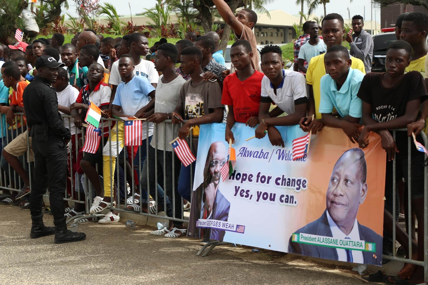
[[[6,87],[12,87],[12,104],[6,114],[6,122],[9,125],[13,125],[15,120],[14,113],[24,112],[24,103],[22,100],[22,94],[24,89],[28,85],[28,81],[23,79],[21,72],[19,71],[18,65],[12,65],[7,67],[3,72],[3,82]],[[26,124],[25,116],[23,116],[23,123]],[[20,193],[17,194],[15,199],[28,194],[30,192],[30,178],[25,171],[23,165],[19,161],[18,157],[23,155],[29,149],[30,162],[34,161],[33,150],[31,149],[31,138],[29,138],[30,146],[27,144],[28,132],[25,131],[13,139],[4,149],[2,155],[9,162],[9,165],[18,173],[18,175],[24,180],[24,188]],[[27,157],[28,159],[28,157]],[[12,202],[11,202],[12,203]],[[24,206],[24,205],[18,205]]]

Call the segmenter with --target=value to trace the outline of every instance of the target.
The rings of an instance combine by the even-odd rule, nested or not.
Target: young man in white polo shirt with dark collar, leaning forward
[[[268,130],[270,143],[284,147],[284,141],[275,126],[297,125],[302,118],[300,116],[306,115],[306,80],[302,73],[282,69],[284,62],[278,46],[265,46],[260,56],[265,76],[262,79],[256,138],[263,138],[265,130]],[[271,102],[276,104],[276,108],[269,112]],[[278,117],[284,112],[287,116]]]

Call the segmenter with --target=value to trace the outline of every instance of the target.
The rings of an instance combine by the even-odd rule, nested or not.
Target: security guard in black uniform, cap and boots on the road
[[[27,126],[33,138],[34,183],[30,193],[31,238],[55,234],[55,243],[81,241],[83,232],[67,230],[64,217],[64,188],[67,177],[67,150],[71,134],[65,128],[58,112],[58,99],[51,83],[55,82],[58,68],[63,67],[51,56],[36,60],[37,76],[24,90],[24,111]],[[42,199],[49,186],[49,202],[53,214],[53,227],[43,224]]]

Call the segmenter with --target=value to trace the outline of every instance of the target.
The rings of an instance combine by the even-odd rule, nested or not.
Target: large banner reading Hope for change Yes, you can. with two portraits
[[[202,125],[187,235],[306,256],[381,265],[386,153],[380,137],[359,149],[342,129],[312,135],[292,160],[299,126],[277,127],[285,147],[245,139],[235,123],[236,165],[223,179],[225,124]]]

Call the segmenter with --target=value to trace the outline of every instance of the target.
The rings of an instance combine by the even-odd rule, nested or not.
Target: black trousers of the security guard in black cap
[[[33,139],[34,182],[30,193],[32,216],[42,214],[42,199],[49,186],[49,202],[53,218],[64,218],[64,191],[67,177],[67,150],[65,141],[57,135],[49,135],[48,141]]]

